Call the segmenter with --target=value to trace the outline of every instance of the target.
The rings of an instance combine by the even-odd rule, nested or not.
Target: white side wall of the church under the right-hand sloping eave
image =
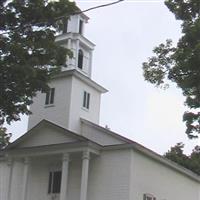
[[[199,183],[138,152],[132,152],[130,199],[150,193],[158,200],[199,200]]]

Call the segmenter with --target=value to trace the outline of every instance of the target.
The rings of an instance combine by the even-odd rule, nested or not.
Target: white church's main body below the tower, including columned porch
[[[86,138],[43,120],[11,144],[0,160],[0,199],[200,200],[197,175],[89,123]]]

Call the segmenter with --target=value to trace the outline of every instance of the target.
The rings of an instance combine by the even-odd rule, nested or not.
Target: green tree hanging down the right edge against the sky
[[[182,35],[176,46],[168,39],[154,48],[155,55],[143,63],[144,77],[161,87],[174,82],[182,90],[188,107],[183,115],[186,134],[196,138],[200,133],[200,1],[166,0],[165,5],[181,20]]]

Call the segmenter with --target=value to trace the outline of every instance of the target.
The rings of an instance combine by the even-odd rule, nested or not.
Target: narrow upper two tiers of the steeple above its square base
[[[84,37],[85,24],[88,19],[84,14],[71,16],[67,22],[64,22],[63,32],[58,35],[56,42],[73,53],[73,57],[67,59],[66,67],[62,70],[76,69],[91,77],[92,51],[95,45]]]

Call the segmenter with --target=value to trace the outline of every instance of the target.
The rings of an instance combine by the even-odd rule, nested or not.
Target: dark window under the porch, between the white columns
[[[61,171],[49,172],[48,194],[60,193],[61,176],[62,176]]]

